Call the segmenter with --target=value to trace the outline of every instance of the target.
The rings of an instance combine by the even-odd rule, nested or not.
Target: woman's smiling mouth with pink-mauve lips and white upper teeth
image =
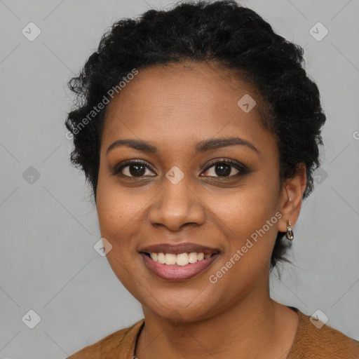
[[[219,257],[215,248],[179,243],[152,245],[139,251],[145,266],[164,280],[189,280],[208,269]]]

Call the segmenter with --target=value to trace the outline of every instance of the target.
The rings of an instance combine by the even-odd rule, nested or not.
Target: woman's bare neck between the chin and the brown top
[[[297,331],[297,314],[273,301],[269,288],[194,322],[170,321],[142,308],[145,325],[135,351],[139,359],[284,359]]]

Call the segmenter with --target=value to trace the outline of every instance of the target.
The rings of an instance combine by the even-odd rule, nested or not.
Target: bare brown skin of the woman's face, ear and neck
[[[142,304],[145,326],[135,355],[149,358],[286,358],[297,314],[269,297],[269,264],[277,231],[297,222],[305,168],[279,186],[276,141],[260,122],[259,106],[245,113],[238,100],[255,88],[226,69],[205,63],[140,69],[109,103],[104,121],[97,213],[114,273]],[[241,137],[243,145],[194,151],[197,142]],[[151,142],[158,152],[121,146],[119,139]],[[243,163],[250,172],[230,178],[208,168],[214,158]],[[149,164],[142,178],[111,170],[125,160]],[[178,184],[165,177],[177,166]],[[206,170],[208,168],[208,170]],[[122,172],[130,176],[129,167]],[[276,212],[282,217],[212,284],[215,274]],[[193,242],[221,254],[203,273],[184,281],[158,278],[139,254],[145,245]],[[234,345],[234,343],[236,345]],[[212,355],[212,356],[211,356]]]

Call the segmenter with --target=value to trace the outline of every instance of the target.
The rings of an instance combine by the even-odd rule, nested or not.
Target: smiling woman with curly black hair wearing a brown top
[[[66,125],[144,319],[69,358],[359,358],[358,341],[269,296],[325,123],[302,55],[235,1],[103,36]]]

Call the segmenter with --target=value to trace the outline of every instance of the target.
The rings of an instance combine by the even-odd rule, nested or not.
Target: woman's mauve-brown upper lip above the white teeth
[[[206,247],[205,245],[199,245],[196,243],[159,243],[154,245],[147,245],[139,250],[139,252],[146,253],[170,253],[173,255],[180,255],[181,253],[203,253],[204,255],[212,255],[215,252],[220,252],[217,248]]]

